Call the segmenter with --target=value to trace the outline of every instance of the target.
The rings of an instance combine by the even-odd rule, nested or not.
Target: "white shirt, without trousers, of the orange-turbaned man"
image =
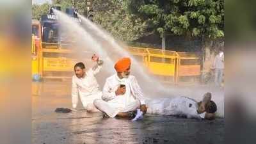
[[[120,84],[125,84],[126,91],[124,95],[116,96],[115,92]],[[127,106],[127,104],[134,102],[136,99],[140,100],[141,104],[145,104],[138,81],[136,77],[131,75],[123,79],[120,79],[117,74],[108,77],[103,88],[102,99],[113,103],[117,102],[123,106]]]

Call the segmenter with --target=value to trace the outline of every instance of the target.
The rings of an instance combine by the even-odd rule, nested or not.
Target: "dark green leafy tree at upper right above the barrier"
[[[125,0],[127,10],[161,35],[197,36],[205,45],[224,36],[223,0]]]

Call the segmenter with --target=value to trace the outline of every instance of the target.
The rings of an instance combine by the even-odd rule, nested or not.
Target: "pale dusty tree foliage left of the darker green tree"
[[[125,8],[124,1],[93,1],[93,22],[99,24],[119,40],[129,42],[143,35],[145,22],[140,18],[134,18]]]

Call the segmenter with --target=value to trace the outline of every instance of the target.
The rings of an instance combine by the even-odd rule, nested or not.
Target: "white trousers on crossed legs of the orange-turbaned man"
[[[94,106],[99,109],[100,111],[106,113],[109,117],[114,118],[120,112],[129,112],[135,111],[140,107],[140,100],[135,100],[127,106],[122,107],[120,104],[113,104],[110,102],[106,102],[102,99],[96,99],[93,102]]]

